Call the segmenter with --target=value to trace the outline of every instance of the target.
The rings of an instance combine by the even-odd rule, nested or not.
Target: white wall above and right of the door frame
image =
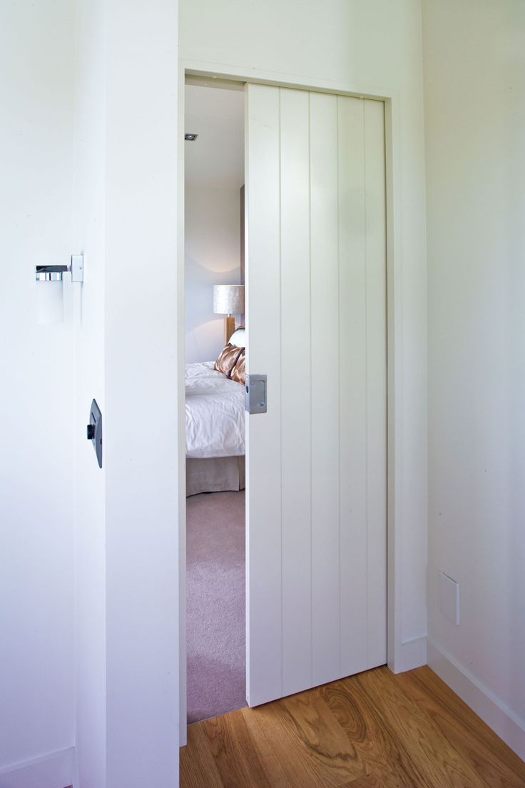
[[[403,571],[397,665],[425,660],[427,632],[426,251],[419,0],[181,0],[180,58],[204,72],[394,95],[398,412],[395,552]],[[394,337],[393,337],[394,339]],[[401,399],[402,398],[402,399]],[[401,429],[402,428],[402,429]]]

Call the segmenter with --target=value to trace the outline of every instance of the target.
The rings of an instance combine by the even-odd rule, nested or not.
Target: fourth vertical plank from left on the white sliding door
[[[367,667],[364,102],[338,97],[342,675]]]

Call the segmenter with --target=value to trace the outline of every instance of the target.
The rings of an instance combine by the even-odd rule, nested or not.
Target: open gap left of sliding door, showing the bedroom
[[[185,87],[188,723],[246,705],[244,95],[233,88]]]

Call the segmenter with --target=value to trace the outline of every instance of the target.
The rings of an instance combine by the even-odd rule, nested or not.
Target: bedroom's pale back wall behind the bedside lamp
[[[214,361],[224,316],[213,314],[213,285],[240,282],[240,190],[187,186],[184,203],[186,360]]]

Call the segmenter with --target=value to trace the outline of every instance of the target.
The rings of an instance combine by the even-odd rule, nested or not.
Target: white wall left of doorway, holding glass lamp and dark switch
[[[75,738],[76,786],[174,786],[177,3],[6,2],[0,28],[0,786],[72,782]],[[37,326],[35,263],[72,251],[85,283]]]

